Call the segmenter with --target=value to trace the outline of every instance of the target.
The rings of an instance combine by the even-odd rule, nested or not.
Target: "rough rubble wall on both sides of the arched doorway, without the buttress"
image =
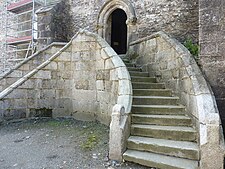
[[[116,2],[116,0],[114,0]],[[198,0],[124,0],[131,2],[137,17],[135,32],[138,38],[153,32],[166,31],[184,41],[198,41]],[[96,31],[99,12],[106,0],[70,0],[73,31],[87,28]]]

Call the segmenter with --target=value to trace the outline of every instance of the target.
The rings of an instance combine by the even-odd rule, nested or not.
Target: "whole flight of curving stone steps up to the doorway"
[[[179,98],[124,59],[132,81],[131,135],[125,161],[160,169],[196,169],[198,135]]]

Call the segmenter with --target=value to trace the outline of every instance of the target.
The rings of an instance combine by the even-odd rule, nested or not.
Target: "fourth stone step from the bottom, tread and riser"
[[[161,126],[192,126],[188,116],[132,114],[133,124],[155,124]]]

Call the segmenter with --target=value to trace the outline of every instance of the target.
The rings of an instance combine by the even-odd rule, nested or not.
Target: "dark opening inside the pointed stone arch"
[[[121,9],[112,13],[111,46],[117,54],[127,52],[127,15]]]

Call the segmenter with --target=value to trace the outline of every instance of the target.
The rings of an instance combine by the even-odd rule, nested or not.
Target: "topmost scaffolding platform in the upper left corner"
[[[37,0],[20,0],[19,2],[11,3],[7,6],[7,11],[13,12],[13,13],[21,13],[25,9],[32,9],[33,5],[35,6],[41,6],[42,3]]]

